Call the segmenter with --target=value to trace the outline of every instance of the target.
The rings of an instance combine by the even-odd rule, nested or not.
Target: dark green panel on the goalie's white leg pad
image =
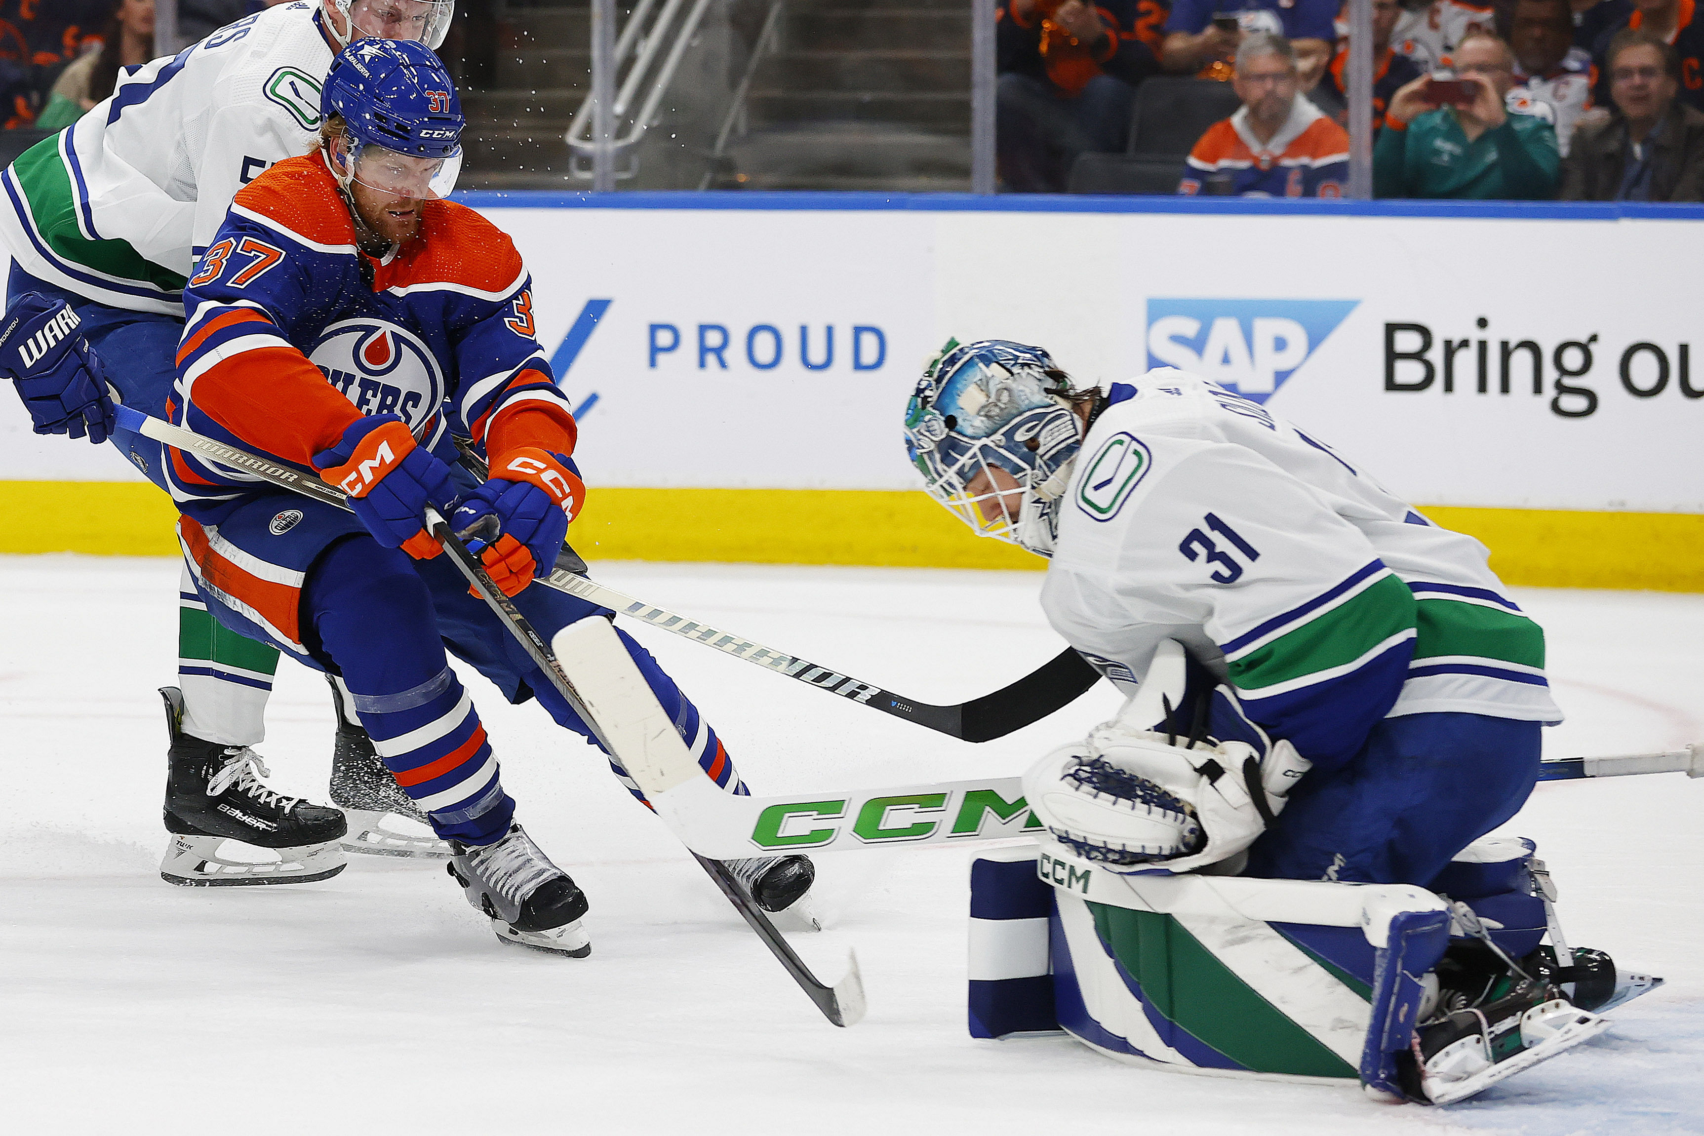
[[[1087,906],[1101,942],[1142,988],[1147,1005],[1201,1044],[1259,1073],[1356,1076],[1353,1066],[1237,978],[1176,918],[1102,903]]]

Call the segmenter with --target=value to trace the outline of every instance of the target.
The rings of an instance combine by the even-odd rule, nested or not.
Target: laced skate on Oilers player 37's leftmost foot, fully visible
[[[591,954],[591,938],[579,925],[590,906],[586,894],[520,824],[492,845],[452,840],[445,867],[503,942],[573,959]]]

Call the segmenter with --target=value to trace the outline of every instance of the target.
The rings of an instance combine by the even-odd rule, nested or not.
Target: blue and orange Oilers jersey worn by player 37
[[[574,419],[535,337],[532,279],[513,242],[453,201],[382,259],[320,153],[279,162],[237,194],[184,290],[174,419],[296,467],[363,414],[395,414],[428,448],[573,453]],[[172,451],[172,496],[198,521],[264,482]]]

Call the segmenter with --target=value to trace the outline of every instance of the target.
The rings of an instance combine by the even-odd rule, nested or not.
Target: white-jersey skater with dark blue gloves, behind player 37
[[[36,145],[3,174],[0,242],[12,257],[0,373],[15,380],[37,434],[111,441],[165,489],[162,450],[114,431],[107,385],[152,416],[167,416],[184,327],[191,264],[239,189],[319,141],[320,87],[351,39],[443,43],[452,0],[298,0],[222,27],[177,56],[119,78],[112,97]],[[453,181],[453,174],[452,174]],[[39,349],[37,349],[39,347]],[[181,588],[179,688],[165,688],[170,732],[165,826],[174,836],[242,840],[281,860],[179,855],[176,884],[273,884],[324,879],[344,848],[448,855],[392,814],[423,821],[380,765],[332,683],[336,809],[269,792],[250,746],[278,652],[220,627]],[[232,819],[239,818],[239,819]],[[249,867],[245,867],[249,865]]]

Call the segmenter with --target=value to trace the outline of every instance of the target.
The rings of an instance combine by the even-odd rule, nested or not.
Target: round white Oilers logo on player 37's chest
[[[380,318],[332,324],[307,351],[361,414],[395,414],[423,438],[445,397],[443,368],[412,332]]]

